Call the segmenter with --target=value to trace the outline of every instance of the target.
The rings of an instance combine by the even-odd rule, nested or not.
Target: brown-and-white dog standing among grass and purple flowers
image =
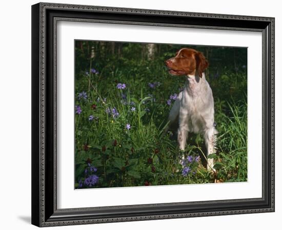
[[[214,101],[204,73],[208,61],[203,53],[183,48],[165,64],[171,75],[186,76],[184,90],[178,94],[169,114],[170,126],[178,121],[177,141],[180,150],[185,150],[188,132],[193,132],[204,135],[207,156],[214,153],[217,134],[214,127]],[[213,159],[207,160],[207,169],[213,170]]]

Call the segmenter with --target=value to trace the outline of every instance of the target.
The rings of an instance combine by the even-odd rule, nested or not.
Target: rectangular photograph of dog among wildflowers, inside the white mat
[[[247,51],[74,40],[74,188],[248,181]]]

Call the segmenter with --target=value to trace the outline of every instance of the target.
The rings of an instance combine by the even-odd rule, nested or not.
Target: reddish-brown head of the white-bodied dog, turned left
[[[198,72],[199,77],[202,77],[209,66],[202,52],[189,48],[180,49],[175,57],[166,60],[165,64],[172,75],[195,75]]]

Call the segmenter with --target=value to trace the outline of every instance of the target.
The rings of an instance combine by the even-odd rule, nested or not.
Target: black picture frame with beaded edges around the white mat
[[[57,208],[56,25],[72,22],[258,31],[263,37],[261,198]],[[274,18],[38,3],[32,6],[32,215],[36,226],[274,212]]]

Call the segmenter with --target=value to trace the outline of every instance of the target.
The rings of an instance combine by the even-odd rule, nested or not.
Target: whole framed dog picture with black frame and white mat
[[[32,224],[274,212],[274,18],[32,6]]]

